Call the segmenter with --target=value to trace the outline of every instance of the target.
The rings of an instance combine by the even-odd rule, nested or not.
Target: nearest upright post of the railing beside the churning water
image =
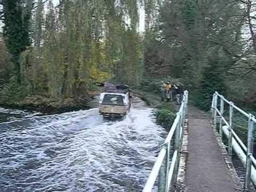
[[[164,143],[164,148],[166,149],[166,155],[164,157],[163,164],[158,174],[158,192],[166,192],[167,187],[167,175],[168,175],[168,166],[169,166],[169,158],[170,151],[168,149],[168,143]]]

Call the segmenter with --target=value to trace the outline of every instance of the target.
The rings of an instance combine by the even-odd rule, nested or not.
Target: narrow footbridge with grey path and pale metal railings
[[[234,130],[234,117],[238,114],[247,118],[244,141]],[[218,92],[213,94],[211,114],[188,107],[188,91],[185,91],[143,192],[255,191],[255,124],[252,114]],[[242,179],[233,166],[234,156],[244,166]]]

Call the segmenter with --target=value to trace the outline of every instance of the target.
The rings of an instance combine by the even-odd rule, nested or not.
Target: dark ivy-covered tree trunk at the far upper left
[[[3,0],[3,34],[12,54],[17,81],[20,82],[19,54],[30,45],[29,27],[33,1]]]

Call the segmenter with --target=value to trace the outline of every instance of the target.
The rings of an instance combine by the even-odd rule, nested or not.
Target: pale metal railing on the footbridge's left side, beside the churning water
[[[171,130],[168,133],[164,146],[161,149],[154,167],[149,175],[143,192],[149,192],[153,189],[157,176],[158,176],[158,192],[167,192],[176,183],[179,161],[180,161],[180,150],[183,140],[183,130],[188,114],[188,91],[184,92],[183,100],[181,102],[180,110],[172,124]],[[174,141],[174,153],[170,158],[170,147],[171,140],[175,133]],[[171,164],[170,164],[171,160]]]

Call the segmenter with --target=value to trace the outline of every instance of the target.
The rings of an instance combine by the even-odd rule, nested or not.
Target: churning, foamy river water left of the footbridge
[[[115,121],[98,109],[43,115],[0,108],[0,191],[141,191],[166,131],[138,98]]]

